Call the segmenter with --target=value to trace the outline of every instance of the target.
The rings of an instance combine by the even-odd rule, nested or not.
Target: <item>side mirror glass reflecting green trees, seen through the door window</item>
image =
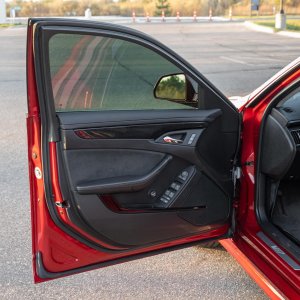
[[[187,98],[187,81],[184,74],[171,74],[161,77],[155,88],[157,99],[185,101]]]

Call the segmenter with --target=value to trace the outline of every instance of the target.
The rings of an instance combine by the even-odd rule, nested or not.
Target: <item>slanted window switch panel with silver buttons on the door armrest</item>
[[[195,167],[190,166],[180,172],[166,191],[160,196],[157,207],[167,208],[179,198],[190,179],[195,174]]]

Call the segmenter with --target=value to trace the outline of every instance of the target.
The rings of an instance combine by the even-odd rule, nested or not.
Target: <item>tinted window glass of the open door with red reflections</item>
[[[55,34],[49,40],[49,63],[56,111],[195,106],[155,98],[154,87],[159,79],[182,71],[153,50],[133,42],[92,35]],[[195,86],[195,82],[190,86]]]

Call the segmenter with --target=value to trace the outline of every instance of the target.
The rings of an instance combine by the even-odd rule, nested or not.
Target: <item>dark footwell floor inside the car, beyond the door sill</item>
[[[300,182],[282,182],[272,222],[300,245]]]

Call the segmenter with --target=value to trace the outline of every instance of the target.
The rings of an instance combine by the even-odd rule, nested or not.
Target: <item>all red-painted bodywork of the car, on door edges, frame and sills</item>
[[[35,283],[50,279],[40,278],[36,273],[36,254],[43,253],[44,267],[49,272],[62,272],[61,277],[69,275],[65,271],[76,270],[80,267],[89,266],[99,268],[109,264],[120,263],[135,259],[135,255],[147,253],[154,255],[164,248],[171,248],[181,244],[187,244],[202,239],[213,239],[227,233],[228,226],[208,231],[206,234],[196,235],[189,238],[182,238],[172,242],[137,249],[134,251],[124,251],[114,253],[118,248],[111,248],[109,252],[100,252],[88,247],[80,241],[74,239],[61,230],[53,222],[46,204],[43,179],[35,174],[43,174],[42,153],[41,153],[41,119],[39,115],[39,104],[34,67],[33,50],[33,28],[29,26],[27,37],[27,89],[28,89],[28,161],[30,178],[31,197],[31,220],[32,220],[32,249],[33,249],[33,270]],[[289,70],[294,66],[298,69],[289,74]],[[287,75],[289,74],[289,75]],[[232,240],[222,241],[222,245],[235,256],[242,264],[250,276],[258,282],[267,295],[271,298],[281,298],[283,295],[290,299],[296,299],[300,295],[299,271],[291,269],[275,252],[264,244],[257,233],[262,231],[257,220],[255,211],[255,163],[258,151],[259,134],[262,118],[268,104],[280,91],[300,77],[299,61],[290,65],[277,76],[273,77],[267,84],[256,90],[251,96],[248,104],[245,104],[240,111],[243,113],[242,149],[241,165],[243,176],[240,180],[240,196],[236,202],[236,232]],[[277,82],[276,87],[263,97],[266,90]],[[259,100],[255,106],[251,103]],[[56,157],[56,144],[51,142],[50,149],[50,169],[52,177],[52,188],[54,199],[59,204],[62,202],[61,190],[58,180],[58,167]],[[246,162],[253,162],[249,165]],[[75,231],[80,231],[69,220],[63,207],[57,207],[60,221]],[[80,232],[87,239],[98,244],[102,241],[95,240],[84,232]],[[107,246],[107,245],[104,245]],[[150,251],[150,252],[149,252]],[[248,258],[248,259],[247,259]],[[123,259],[123,260],[120,260]],[[103,265],[101,265],[103,263]],[[255,267],[255,266],[256,267]],[[260,271],[258,271],[259,269]],[[78,272],[85,271],[80,269]],[[267,278],[267,279],[266,279]],[[269,280],[269,282],[268,282]],[[275,287],[276,286],[276,287]],[[280,290],[280,292],[279,292]]]

